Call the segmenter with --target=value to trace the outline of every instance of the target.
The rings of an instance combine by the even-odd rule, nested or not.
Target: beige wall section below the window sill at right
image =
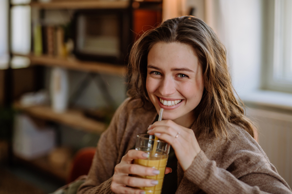
[[[259,109],[247,109],[247,113],[259,128],[259,145],[292,187],[292,114]]]

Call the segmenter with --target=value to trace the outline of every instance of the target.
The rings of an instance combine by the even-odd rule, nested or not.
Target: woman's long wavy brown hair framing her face
[[[195,133],[198,139],[204,138],[210,132],[228,139],[228,129],[233,129],[232,124],[255,137],[256,128],[244,115],[244,110],[234,95],[226,49],[215,32],[197,17],[168,19],[161,26],[145,32],[134,43],[128,63],[128,96],[131,99],[140,98],[143,107],[153,108],[146,91],[147,55],[158,42],[188,44],[197,52],[204,81],[201,102],[194,109],[198,126]]]

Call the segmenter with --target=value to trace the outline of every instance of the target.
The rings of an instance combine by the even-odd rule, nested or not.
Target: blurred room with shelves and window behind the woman
[[[258,143],[292,187],[291,0],[0,0],[0,193],[86,174],[126,98],[132,44],[184,15],[222,40]]]

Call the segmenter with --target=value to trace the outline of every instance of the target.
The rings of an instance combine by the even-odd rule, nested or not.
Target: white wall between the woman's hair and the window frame
[[[238,95],[259,89],[262,64],[262,0],[213,0],[213,29],[227,49]],[[215,9],[215,11],[214,11]]]

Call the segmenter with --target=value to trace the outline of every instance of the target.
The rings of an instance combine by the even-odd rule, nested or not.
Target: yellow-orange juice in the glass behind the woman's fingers
[[[158,180],[158,185],[155,185],[153,187],[137,187],[137,189],[144,190],[146,194],[160,194],[161,189],[162,189],[167,159],[168,159],[168,155],[150,155],[149,158],[146,160],[135,159],[134,164],[140,164],[142,166],[153,167],[157,170],[160,170],[160,174],[155,175],[155,176],[135,175],[135,177],[139,177],[139,178],[149,178],[149,179]]]

